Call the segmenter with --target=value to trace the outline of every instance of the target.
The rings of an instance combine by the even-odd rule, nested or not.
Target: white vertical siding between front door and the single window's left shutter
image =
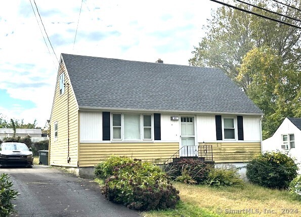
[[[197,117],[197,138],[198,142],[216,141],[216,119],[215,116],[200,116]]]

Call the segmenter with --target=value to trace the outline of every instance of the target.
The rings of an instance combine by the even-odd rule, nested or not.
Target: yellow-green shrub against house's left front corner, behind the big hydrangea
[[[112,155],[106,161],[103,161],[95,166],[94,174],[99,179],[106,179],[114,173],[114,167],[133,163],[134,160],[124,156]]]

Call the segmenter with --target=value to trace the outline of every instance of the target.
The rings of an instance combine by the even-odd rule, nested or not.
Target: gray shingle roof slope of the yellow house
[[[263,113],[221,69],[62,57],[79,107]]]

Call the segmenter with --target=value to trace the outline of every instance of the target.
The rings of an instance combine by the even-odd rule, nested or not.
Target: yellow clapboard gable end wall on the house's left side
[[[59,78],[65,73],[65,93],[60,95]],[[69,89],[69,157],[68,157],[68,89]],[[58,139],[55,140],[54,123],[58,121]],[[75,99],[69,76],[64,64],[61,64],[59,76],[56,82],[55,97],[51,113],[51,140],[49,164],[56,166],[75,166],[78,161],[78,105]]]

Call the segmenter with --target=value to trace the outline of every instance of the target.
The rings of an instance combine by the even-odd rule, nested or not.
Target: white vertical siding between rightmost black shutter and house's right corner
[[[260,118],[243,116],[244,141],[260,141]]]

